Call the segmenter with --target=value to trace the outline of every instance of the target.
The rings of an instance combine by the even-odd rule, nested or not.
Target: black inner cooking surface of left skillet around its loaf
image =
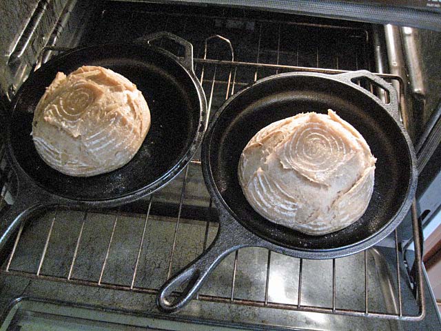
[[[143,92],[152,116],[150,130],[132,161],[94,177],[71,177],[50,168],[34,148],[34,108],[59,71],[83,65],[123,74]],[[12,114],[11,141],[21,168],[46,190],[79,200],[121,197],[159,181],[185,155],[198,130],[200,105],[194,83],[178,63],[140,46],[97,46],[58,57],[25,82]]]

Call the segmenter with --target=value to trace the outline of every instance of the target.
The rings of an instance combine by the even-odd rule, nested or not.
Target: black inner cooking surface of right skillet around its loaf
[[[329,108],[365,137],[377,158],[375,185],[359,221],[338,232],[310,236],[271,223],[255,212],[240,188],[237,167],[243,148],[261,128],[300,112],[327,113]],[[229,103],[212,130],[209,167],[225,207],[245,228],[276,245],[333,250],[359,243],[387,225],[407,199],[411,161],[400,128],[372,97],[345,83],[311,76],[260,83]]]

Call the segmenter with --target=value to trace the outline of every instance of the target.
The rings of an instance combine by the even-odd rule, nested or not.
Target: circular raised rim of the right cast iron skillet
[[[360,70],[364,71],[365,70]],[[353,72],[350,72],[353,73]],[[338,76],[338,75],[336,75]],[[221,117],[222,113],[225,111],[226,108],[229,107],[229,105],[236,100],[238,97],[243,96],[243,94],[248,93],[250,89],[252,89],[254,86],[258,86],[260,84],[263,84],[267,81],[272,81],[276,79],[285,79],[286,77],[318,77],[320,79],[328,79],[340,84],[343,84],[349,88],[353,88],[354,90],[358,90],[358,92],[362,94],[367,94],[368,91],[364,88],[356,85],[351,84],[346,81],[341,81],[339,79],[336,79],[334,75],[331,74],[322,74],[322,73],[316,73],[316,72],[285,72],[282,74],[275,74],[269,77],[265,77],[263,79],[259,79],[255,83],[250,84],[243,90],[240,90],[237,94],[235,94],[233,97],[229,98],[223,105],[218,109],[216,114],[214,114],[214,118],[209,124],[209,128],[207,129],[206,138],[203,141],[202,145],[202,165],[203,165],[203,175],[205,179],[205,183],[207,184],[207,188],[212,195],[212,197],[216,197],[216,201],[220,203],[220,208],[223,208],[228,214],[229,217],[232,217],[234,221],[236,221],[238,224],[242,225],[243,228],[245,228],[247,231],[254,234],[256,237],[258,237],[261,241],[263,241],[263,245],[267,246],[268,248],[279,249],[283,250],[283,252],[289,252],[290,255],[294,257],[303,257],[303,258],[309,258],[309,259],[329,259],[329,258],[335,258],[335,257],[344,257],[349,254],[353,254],[356,252],[360,252],[361,250],[365,250],[371,245],[375,245],[375,243],[378,243],[385,237],[387,237],[402,221],[402,219],[407,214],[410,206],[411,201],[415,192],[416,192],[416,183],[418,179],[418,172],[416,171],[416,155],[413,150],[413,144],[411,143],[411,139],[409,137],[409,134],[407,134],[406,130],[404,130],[404,127],[402,126],[402,123],[398,123],[396,119],[393,118],[389,110],[387,110],[386,107],[384,107],[384,104],[380,99],[373,96],[373,94],[369,93],[369,97],[375,101],[378,106],[380,106],[385,113],[387,113],[387,116],[391,119],[391,121],[394,123],[394,125],[400,130],[400,133],[402,134],[402,137],[404,138],[404,141],[406,142],[407,146],[407,157],[409,159],[409,181],[406,183],[407,190],[404,194],[403,202],[400,206],[400,208],[397,209],[396,213],[393,214],[393,217],[387,221],[387,223],[384,223],[380,229],[378,229],[373,234],[369,235],[368,237],[356,241],[355,243],[351,243],[349,245],[343,245],[337,248],[324,248],[324,249],[318,249],[318,248],[292,248],[289,247],[289,245],[284,245],[278,241],[271,240],[270,238],[267,239],[265,237],[261,237],[257,232],[252,230],[250,226],[247,226],[246,221],[240,221],[240,217],[229,207],[225,199],[223,198],[222,194],[220,194],[218,190],[218,185],[214,181],[214,176],[212,172],[212,164],[211,164],[211,142],[214,135],[214,130],[216,129],[218,119]],[[221,222],[220,222],[221,223]],[[222,225],[220,225],[222,226]],[[336,233],[336,232],[333,232]],[[320,256],[319,256],[320,254]]]

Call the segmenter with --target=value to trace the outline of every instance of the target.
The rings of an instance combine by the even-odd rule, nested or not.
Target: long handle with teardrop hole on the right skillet
[[[156,297],[158,308],[163,312],[175,312],[187,305],[209,274],[228,254],[239,248],[254,245],[243,236],[245,231],[247,230],[234,221],[223,219],[218,234],[209,248],[161,287]],[[173,292],[178,291],[178,288],[185,284],[187,284],[185,289],[176,299],[170,298]]]

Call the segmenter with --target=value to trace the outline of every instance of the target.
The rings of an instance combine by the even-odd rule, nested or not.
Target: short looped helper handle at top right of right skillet
[[[353,85],[357,86],[357,88],[360,88],[356,84],[356,79],[368,79],[376,86],[379,86],[380,88],[386,90],[389,94],[389,103],[385,103],[384,101],[380,100],[376,95],[372,94],[372,97],[383,104],[384,108],[386,108],[387,112],[391,114],[391,116],[398,122],[401,122],[400,119],[400,108],[398,103],[398,94],[396,89],[392,86],[391,83],[388,83],[387,81],[384,81],[384,79],[378,77],[376,74],[373,74],[370,71],[367,70],[358,70],[358,71],[352,71],[352,72],[345,72],[344,74],[338,74],[337,75],[340,79],[343,79],[347,81],[348,83],[352,83]],[[363,89],[363,91],[367,91]]]

